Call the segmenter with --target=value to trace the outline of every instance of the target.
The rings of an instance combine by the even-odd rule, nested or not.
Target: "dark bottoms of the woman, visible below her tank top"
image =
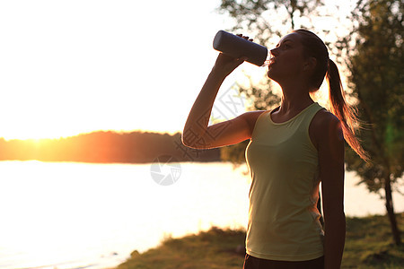
[[[260,259],[246,254],[243,269],[324,269],[324,256],[317,259],[288,262]]]

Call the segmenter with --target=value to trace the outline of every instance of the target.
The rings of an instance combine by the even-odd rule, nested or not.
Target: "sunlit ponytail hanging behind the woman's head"
[[[330,59],[327,70],[327,81],[329,82],[330,110],[341,122],[345,141],[364,161],[369,161],[367,153],[364,152],[355,135],[355,128],[358,126],[356,111],[347,105],[338,67]]]

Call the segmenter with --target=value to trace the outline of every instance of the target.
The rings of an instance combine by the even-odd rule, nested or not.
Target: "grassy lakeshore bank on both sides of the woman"
[[[404,231],[404,213],[397,214],[397,221]],[[244,239],[244,230],[213,227],[198,235],[165,239],[142,254],[134,251],[118,269],[241,269]],[[399,247],[392,244],[387,216],[347,218],[341,268],[404,268],[404,242]]]

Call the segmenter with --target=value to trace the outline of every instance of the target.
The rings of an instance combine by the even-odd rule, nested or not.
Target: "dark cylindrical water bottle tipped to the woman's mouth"
[[[216,33],[213,47],[234,58],[245,56],[247,62],[258,66],[265,65],[268,57],[268,48],[224,30]]]

